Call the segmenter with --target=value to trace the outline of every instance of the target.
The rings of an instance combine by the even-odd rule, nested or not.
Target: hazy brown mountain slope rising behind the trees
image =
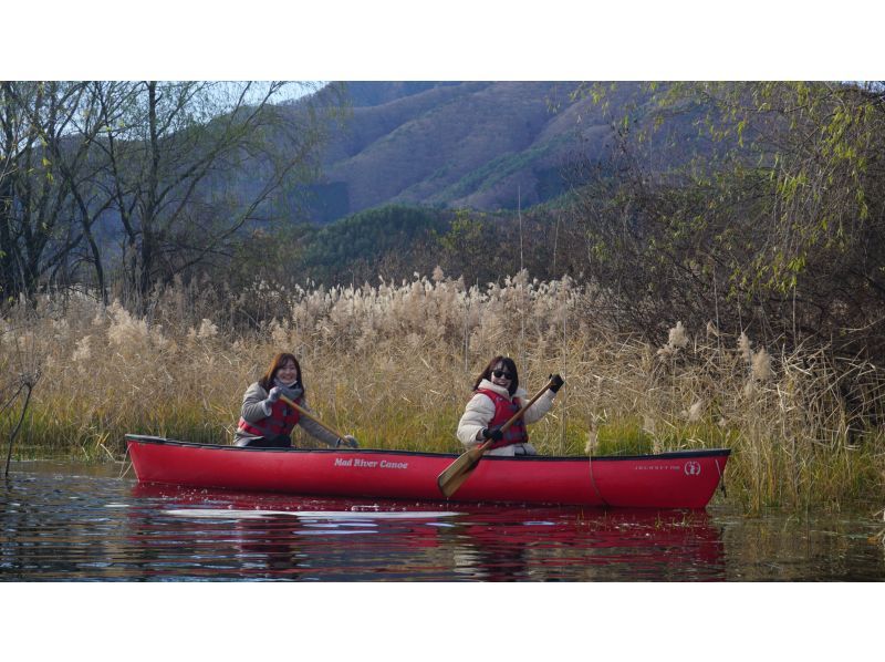
[[[350,117],[323,156],[315,218],[387,203],[523,207],[565,190],[563,169],[603,153],[612,116],[568,82],[347,83]],[[623,107],[638,84],[617,85]]]

